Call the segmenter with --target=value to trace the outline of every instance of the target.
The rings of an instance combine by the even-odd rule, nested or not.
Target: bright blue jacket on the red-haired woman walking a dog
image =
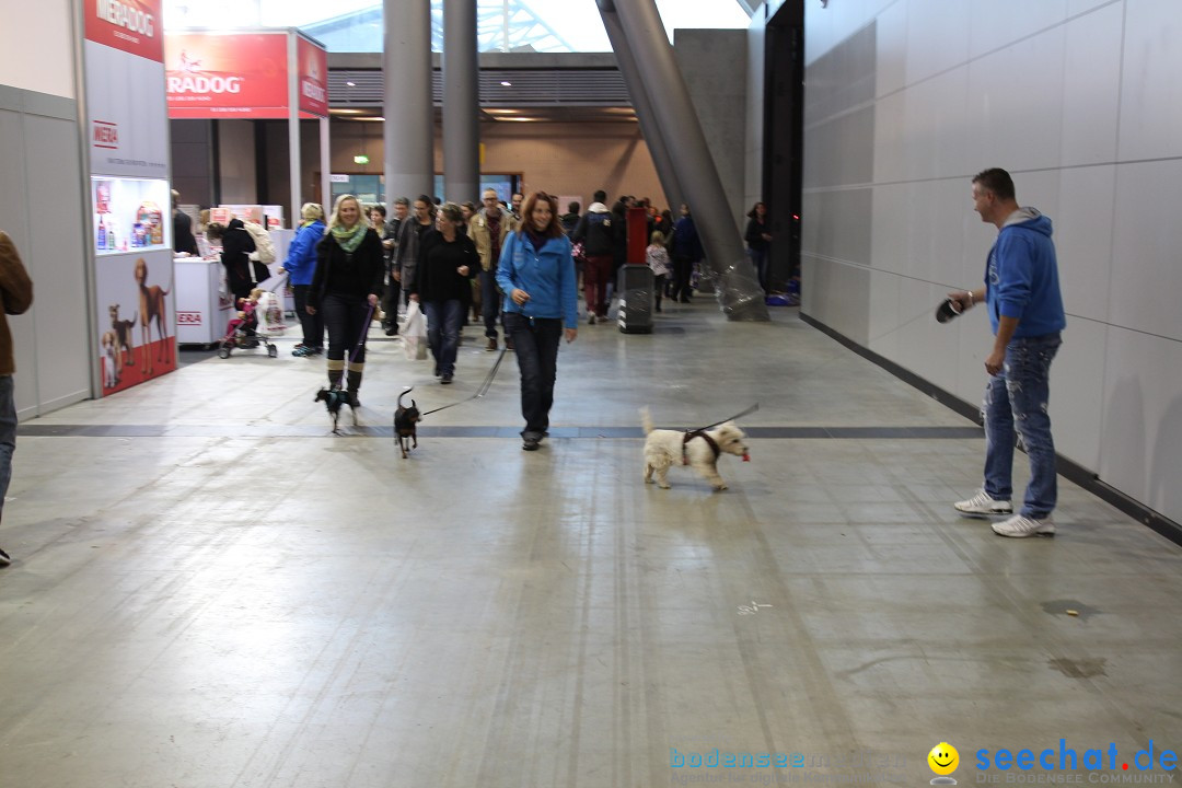
[[[505,311],[527,318],[561,318],[567,328],[578,328],[578,297],[574,288],[574,260],[570,239],[551,237],[534,249],[520,230],[509,233],[501,247],[496,285],[505,293]],[[508,295],[513,288],[530,294],[525,304]]]

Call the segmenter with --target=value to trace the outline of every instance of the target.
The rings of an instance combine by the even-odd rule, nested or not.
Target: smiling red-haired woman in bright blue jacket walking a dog
[[[571,242],[558,220],[558,200],[535,191],[521,207],[521,227],[501,248],[496,285],[506,293],[505,333],[521,372],[521,448],[537,451],[550,429],[558,375],[558,346],[578,336],[578,301]]]

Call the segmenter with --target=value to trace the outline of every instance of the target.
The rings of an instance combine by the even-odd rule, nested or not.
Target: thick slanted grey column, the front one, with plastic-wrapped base
[[[606,6],[615,5],[615,13],[619,17],[618,30],[624,32],[623,43],[636,61],[637,79],[629,79],[629,74],[624,74],[634,105],[639,90],[645,90],[655,125],[676,130],[671,135],[676,133],[677,139],[677,182],[694,214],[694,226],[706,248],[703,274],[714,279],[723,313],[732,320],[767,320],[764,291],[743,249],[742,237],[732,217],[719,171],[714,167],[702,126],[697,123],[697,113],[674,59],[655,0],[599,2],[600,14],[605,17],[611,13]],[[636,106],[637,113],[641,110],[641,106]]]

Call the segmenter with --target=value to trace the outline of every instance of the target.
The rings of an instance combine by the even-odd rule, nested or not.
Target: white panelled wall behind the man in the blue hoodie
[[[930,313],[996,235],[969,180],[1009,170],[1056,227],[1057,449],[1182,521],[1182,2],[810,2],[806,59],[804,311],[979,402],[983,311]]]

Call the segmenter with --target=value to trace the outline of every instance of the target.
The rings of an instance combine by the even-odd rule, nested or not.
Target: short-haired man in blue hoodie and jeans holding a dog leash
[[[1030,457],[1031,480],[1021,510],[993,530],[1002,536],[1051,536],[1057,488],[1054,441],[1051,437],[1048,377],[1067,325],[1059,292],[1059,266],[1051,241],[1051,220],[1014,197],[1009,172],[989,169],[973,178],[973,209],[996,226],[989,249],[985,287],[949,293],[961,311],[983,301],[989,310],[994,343],[985,359],[985,487],[959,501],[968,516],[1013,513],[1011,474],[1014,428]]]

